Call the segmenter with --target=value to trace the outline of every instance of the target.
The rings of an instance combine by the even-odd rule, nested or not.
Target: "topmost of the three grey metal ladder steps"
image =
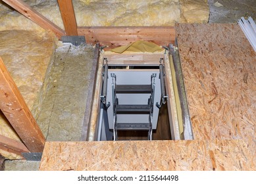
[[[151,93],[151,85],[116,85],[116,93]]]

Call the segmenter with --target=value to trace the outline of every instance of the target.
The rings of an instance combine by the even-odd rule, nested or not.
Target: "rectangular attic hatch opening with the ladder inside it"
[[[141,55],[146,59],[141,59]],[[165,68],[168,53],[147,56],[138,53],[132,57],[103,54],[101,60],[95,140],[175,139],[174,131],[177,134],[179,129],[173,127],[173,104],[168,98],[170,83],[166,77],[170,77],[170,71],[166,76]]]

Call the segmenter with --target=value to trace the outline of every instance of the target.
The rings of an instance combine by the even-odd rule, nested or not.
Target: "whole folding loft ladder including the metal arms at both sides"
[[[112,106],[113,108],[113,140],[118,140],[118,131],[148,131],[147,139],[152,140],[152,122],[153,122],[153,109],[155,97],[155,78],[157,74],[151,74],[151,84],[148,85],[120,85],[116,84],[116,75],[111,73],[112,78],[112,99],[113,104],[107,103],[107,80],[108,80],[108,64],[107,58],[104,58],[104,72],[103,72],[103,89],[101,91],[101,111],[99,114],[99,127],[97,133],[97,140],[101,140],[101,127],[102,122],[105,123],[105,134],[107,137],[112,137],[109,133],[109,122],[103,121],[103,111]],[[161,108],[162,104],[166,103],[168,95],[165,91],[165,68],[163,66],[163,58],[160,59],[159,64],[159,80],[161,83],[161,102],[155,105]],[[149,94],[147,104],[119,104],[116,94]],[[132,96],[131,96],[132,97]],[[125,114],[148,114],[148,122],[118,122],[118,115]],[[129,118],[128,118],[129,119]],[[110,140],[110,138],[108,138]]]

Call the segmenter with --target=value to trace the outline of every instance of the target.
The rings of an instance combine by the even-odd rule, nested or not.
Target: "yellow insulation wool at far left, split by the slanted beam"
[[[43,80],[55,49],[55,36],[47,32],[9,30],[0,32],[0,56],[22,97],[36,118],[43,99]],[[20,141],[0,110],[0,135]],[[14,154],[0,150],[6,158]]]

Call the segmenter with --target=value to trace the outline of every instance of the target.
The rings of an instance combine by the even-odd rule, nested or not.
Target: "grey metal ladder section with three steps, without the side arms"
[[[117,85],[116,75],[112,77],[112,94],[113,94],[113,137],[114,141],[118,140],[118,130],[144,130],[148,131],[147,139],[152,140],[152,120],[153,105],[155,95],[155,78],[157,74],[151,75],[151,84],[149,85]],[[118,104],[116,94],[150,94],[147,104]],[[148,123],[121,123],[118,122],[118,114],[148,114]]]

